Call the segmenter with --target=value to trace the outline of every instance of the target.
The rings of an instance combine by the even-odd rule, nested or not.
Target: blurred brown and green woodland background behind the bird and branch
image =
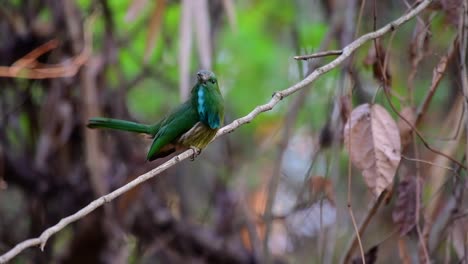
[[[352,105],[377,102],[397,120],[396,112],[414,114],[429,100],[418,128],[431,146],[462,160],[461,3],[437,1],[217,139],[195,161],[177,164],[67,226],[44,252],[27,249],[12,263],[339,263],[347,252],[360,263],[359,250],[349,250],[355,231],[348,203],[358,225],[378,203],[361,236],[367,263],[423,262],[426,239],[434,262],[466,261],[460,168],[416,140],[406,157],[452,170],[403,159],[385,201],[352,170],[348,201],[351,172],[342,145]],[[199,69],[210,69],[230,123],[333,59],[295,55],[340,49],[412,4],[0,1],[0,254],[167,160],[145,162],[150,139],[89,130],[88,118],[156,122],[186,99]],[[444,56],[435,84],[433,70]]]

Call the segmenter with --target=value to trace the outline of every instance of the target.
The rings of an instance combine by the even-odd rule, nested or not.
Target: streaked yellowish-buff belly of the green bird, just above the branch
[[[189,131],[182,134],[177,142],[186,147],[204,148],[210,143],[217,131],[218,129],[211,129],[202,122],[198,122]]]

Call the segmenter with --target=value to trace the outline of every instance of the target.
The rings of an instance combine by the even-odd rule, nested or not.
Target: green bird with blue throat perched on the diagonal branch
[[[154,125],[131,121],[94,117],[89,128],[109,128],[150,135],[153,143],[146,159],[166,157],[177,150],[201,149],[216,135],[224,122],[224,101],[214,73],[201,70],[190,98]]]

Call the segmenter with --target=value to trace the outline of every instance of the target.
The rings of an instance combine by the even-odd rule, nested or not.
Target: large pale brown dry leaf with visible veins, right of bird
[[[379,196],[392,182],[401,159],[395,121],[380,105],[356,107],[344,130],[345,145],[367,187]]]

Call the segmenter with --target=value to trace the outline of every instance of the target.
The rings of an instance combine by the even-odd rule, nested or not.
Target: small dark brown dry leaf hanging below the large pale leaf
[[[416,177],[407,177],[398,184],[398,194],[393,209],[393,222],[398,226],[401,236],[413,229],[416,221]],[[421,200],[421,197],[418,198]]]

